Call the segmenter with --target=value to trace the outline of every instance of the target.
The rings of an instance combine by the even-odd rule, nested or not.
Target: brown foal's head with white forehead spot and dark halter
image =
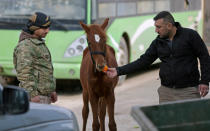
[[[102,25],[92,24],[86,25],[80,22],[80,25],[86,32],[88,48],[91,54],[92,62],[95,69],[102,71],[106,66],[106,33],[105,28],[108,25],[107,18]]]

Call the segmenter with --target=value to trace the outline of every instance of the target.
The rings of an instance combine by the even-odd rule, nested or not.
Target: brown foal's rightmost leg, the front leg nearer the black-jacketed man
[[[110,95],[107,97],[107,107],[108,107],[108,114],[109,114],[109,130],[110,131],[117,131],[116,122],[114,119],[114,103],[115,103],[115,96],[114,90],[111,91]]]

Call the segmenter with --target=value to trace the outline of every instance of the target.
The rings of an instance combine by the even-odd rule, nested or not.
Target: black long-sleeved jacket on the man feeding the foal
[[[125,75],[152,64],[157,58],[161,60],[161,84],[168,87],[190,87],[209,84],[210,57],[206,45],[199,34],[188,28],[182,28],[176,22],[177,32],[172,41],[172,48],[167,40],[153,40],[146,52],[136,61],[117,67],[118,75]],[[201,79],[198,70],[198,60],[201,66]]]

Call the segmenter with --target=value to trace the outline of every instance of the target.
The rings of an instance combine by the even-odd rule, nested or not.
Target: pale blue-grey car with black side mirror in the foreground
[[[18,87],[0,88],[0,131],[79,131],[74,113],[68,109],[28,102]]]

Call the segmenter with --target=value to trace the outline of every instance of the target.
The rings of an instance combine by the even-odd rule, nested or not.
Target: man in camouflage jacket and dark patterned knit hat
[[[19,86],[28,91],[32,102],[45,104],[57,101],[51,54],[43,40],[50,23],[50,17],[41,12],[32,15],[13,54]]]

